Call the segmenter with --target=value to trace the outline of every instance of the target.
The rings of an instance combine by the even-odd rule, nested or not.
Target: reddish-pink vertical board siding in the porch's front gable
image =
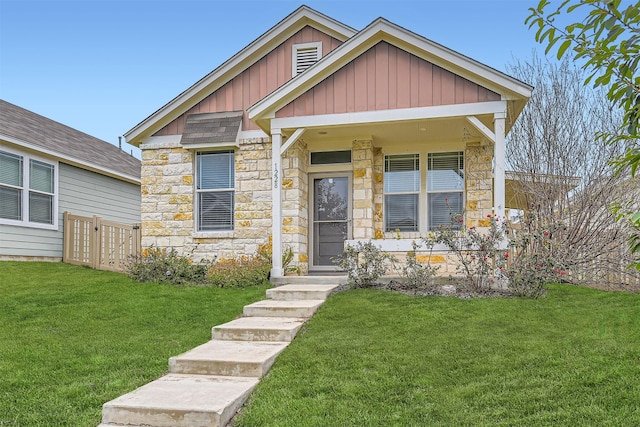
[[[497,100],[497,93],[380,42],[282,108],[276,117]]]

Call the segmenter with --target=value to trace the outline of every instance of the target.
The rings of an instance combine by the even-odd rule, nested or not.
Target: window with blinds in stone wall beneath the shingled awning
[[[196,155],[197,231],[233,230],[234,187],[233,151]]]

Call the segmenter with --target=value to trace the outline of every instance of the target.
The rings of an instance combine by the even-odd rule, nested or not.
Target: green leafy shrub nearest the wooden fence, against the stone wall
[[[175,249],[144,249],[127,266],[129,277],[138,282],[173,283],[174,285],[204,284],[210,262],[193,263],[190,257],[178,255]]]

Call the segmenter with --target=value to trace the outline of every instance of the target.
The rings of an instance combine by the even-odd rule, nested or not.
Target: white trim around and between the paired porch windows
[[[462,161],[463,164],[465,165],[465,178],[464,178],[464,187],[462,188],[462,206],[466,206],[466,200],[467,200],[467,179],[466,179],[466,165],[467,165],[467,159],[466,159],[466,152],[465,150],[462,149],[452,149],[452,150],[434,150],[434,151],[424,151],[424,150],[409,150],[409,151],[393,151],[393,152],[385,152],[382,154],[382,163],[383,163],[383,173],[384,173],[384,162],[385,162],[385,158],[386,156],[395,156],[395,155],[402,155],[402,154],[418,154],[420,156],[420,193],[418,196],[418,202],[419,202],[419,207],[418,207],[418,231],[401,231],[401,235],[403,236],[410,236],[408,241],[410,242],[411,240],[414,239],[415,236],[420,236],[423,234],[426,234],[429,232],[429,217],[427,215],[427,201],[428,201],[428,194],[429,193],[437,193],[437,191],[429,191],[429,182],[428,182],[428,167],[429,167],[429,163],[428,163],[428,157],[429,154],[438,154],[438,153],[457,153],[457,152],[462,152]],[[384,184],[383,184],[384,185]],[[441,192],[445,192],[445,193],[449,193],[452,192],[450,190],[447,191],[441,191]],[[386,197],[384,197],[386,193],[384,192],[383,189],[383,197],[382,197],[382,211],[386,212],[386,206],[384,206],[384,204],[386,203]],[[383,227],[386,229],[386,219],[383,219]],[[465,223],[466,223],[466,218],[465,218]],[[463,224],[464,225],[464,224]],[[386,235],[391,235],[391,233],[393,233],[393,236],[395,237],[396,234],[395,232],[391,232],[391,231],[385,231]]]

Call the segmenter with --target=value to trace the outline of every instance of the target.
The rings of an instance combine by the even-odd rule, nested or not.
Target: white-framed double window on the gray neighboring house
[[[55,170],[54,164],[0,151],[0,221],[55,226]]]

